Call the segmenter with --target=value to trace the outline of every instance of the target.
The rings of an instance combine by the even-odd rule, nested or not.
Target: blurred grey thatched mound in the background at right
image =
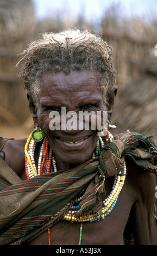
[[[140,75],[120,88],[112,121],[116,132],[127,129],[153,135],[157,143],[157,57],[150,56],[139,64]]]

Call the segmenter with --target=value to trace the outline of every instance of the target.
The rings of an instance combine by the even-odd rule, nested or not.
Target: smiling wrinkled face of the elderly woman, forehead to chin
[[[71,71],[69,75],[63,72],[55,74],[52,71],[45,72],[41,78],[42,90],[40,105],[37,109],[38,124],[53,150],[56,163],[76,165],[91,159],[92,152],[98,140],[97,130],[92,130],[91,119],[89,129],[80,130],[78,123],[73,124],[70,115],[66,117],[75,129],[62,125],[61,109],[75,112],[74,117],[79,117],[79,111],[106,111],[101,92],[98,90],[98,78],[94,70]],[[49,117],[52,111],[60,113],[59,123]],[[54,113],[56,113],[54,112]],[[64,112],[65,113],[65,112]],[[56,120],[55,127],[50,129],[50,122]],[[75,119],[76,120],[76,119]],[[78,120],[78,119],[77,119]],[[65,127],[62,130],[62,127]]]

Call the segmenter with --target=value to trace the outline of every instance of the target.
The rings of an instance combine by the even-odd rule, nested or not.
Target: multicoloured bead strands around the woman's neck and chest
[[[108,138],[106,142],[111,142],[114,139],[114,136],[109,132]],[[49,147],[47,139],[43,139],[43,142],[40,147],[40,154],[37,168],[35,166],[34,153],[35,153],[36,142],[32,139],[32,135],[30,135],[27,139],[26,145],[24,147],[25,153],[25,168],[27,179],[32,178],[36,175],[42,175],[43,173],[51,173],[56,172],[56,162],[53,157],[52,149]],[[99,137],[96,149],[92,154],[92,158],[98,158],[101,153],[101,149],[104,147],[104,142],[101,137]],[[64,216],[64,220],[71,222],[80,222],[80,234],[79,234],[79,245],[81,245],[81,236],[83,231],[83,222],[93,222],[104,219],[105,216],[109,215],[114,206],[117,203],[118,196],[122,190],[126,174],[126,166],[125,161],[122,164],[122,170],[115,176],[114,185],[112,187],[112,191],[109,196],[103,201],[102,212],[99,214],[98,212],[91,212],[87,216],[76,218],[75,215],[77,210],[80,208],[79,202],[81,201],[81,197],[74,200],[73,206],[68,211],[68,213]],[[48,228],[48,245],[51,245],[51,234],[50,229]]]

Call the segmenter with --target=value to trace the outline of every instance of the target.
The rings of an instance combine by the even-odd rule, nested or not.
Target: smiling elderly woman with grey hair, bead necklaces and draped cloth
[[[1,138],[1,245],[155,244],[157,151],[151,137],[109,131],[117,90],[109,45],[77,29],[43,34],[22,60],[36,128],[27,139]],[[107,130],[92,129],[91,117],[89,129],[65,125],[85,111],[96,123],[107,111]]]

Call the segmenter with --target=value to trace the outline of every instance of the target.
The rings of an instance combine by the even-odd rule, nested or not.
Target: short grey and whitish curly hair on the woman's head
[[[43,33],[41,39],[32,42],[23,51],[21,60],[24,59],[25,63],[18,76],[23,87],[30,90],[37,107],[43,72],[52,70],[69,74],[71,70],[94,68],[103,101],[106,102],[115,84],[111,51],[112,48],[100,36],[87,30],[81,32],[79,29],[68,29],[60,33]]]

